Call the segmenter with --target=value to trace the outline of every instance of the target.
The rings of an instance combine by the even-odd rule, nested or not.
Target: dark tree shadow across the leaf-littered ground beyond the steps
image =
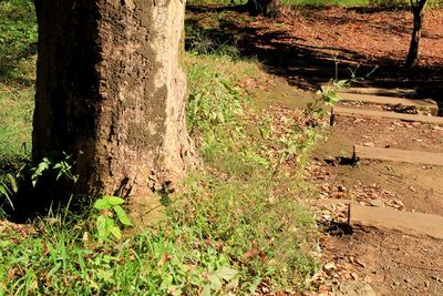
[[[321,10],[308,9],[310,17],[317,17],[316,12]],[[371,9],[353,10],[358,13],[379,12]],[[352,49],[306,44],[299,42],[306,40],[297,39],[286,31],[280,20],[260,19],[265,27],[267,23],[277,23],[277,27],[274,27],[276,30],[264,30],[254,22],[257,19],[251,19],[241,11],[243,7],[187,7],[187,50],[194,50],[196,45],[198,48],[198,42],[206,43],[207,48],[214,51],[217,51],[219,45],[235,47],[240,58],[257,59],[265,71],[282,76],[289,84],[302,90],[318,90],[322,83],[336,76],[337,54],[339,78],[349,78],[349,70],[358,76],[364,76],[377,68],[361,85],[416,89],[418,99],[434,99],[439,102],[441,111],[443,109],[443,64],[418,67],[408,71],[403,61],[391,57],[379,58]],[[393,32],[405,30],[389,24],[385,29]]]

